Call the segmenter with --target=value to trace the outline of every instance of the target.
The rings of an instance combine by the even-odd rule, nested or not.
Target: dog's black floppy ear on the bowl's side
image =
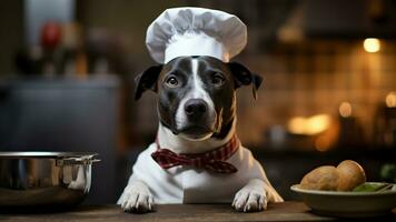
[[[241,85],[253,87],[253,97],[257,99],[257,89],[261,85],[263,78],[258,74],[251,73],[245,65],[238,62],[229,62],[228,68],[232,73],[235,88],[238,89]]]

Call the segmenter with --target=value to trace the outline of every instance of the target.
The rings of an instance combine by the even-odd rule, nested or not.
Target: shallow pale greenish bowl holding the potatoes
[[[379,184],[368,182],[370,184]],[[352,192],[352,191],[318,191],[291,185],[303,201],[320,215],[340,218],[366,218],[390,214],[396,208],[396,184],[392,190],[382,192]]]

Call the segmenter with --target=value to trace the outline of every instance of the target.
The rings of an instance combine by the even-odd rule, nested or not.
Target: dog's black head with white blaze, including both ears
[[[136,79],[135,99],[146,90],[158,92],[162,125],[188,140],[225,137],[235,118],[235,90],[261,78],[240,63],[212,57],[179,57],[147,69]]]

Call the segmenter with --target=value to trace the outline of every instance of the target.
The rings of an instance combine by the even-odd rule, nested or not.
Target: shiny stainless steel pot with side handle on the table
[[[91,185],[96,153],[0,152],[1,206],[72,206]]]

